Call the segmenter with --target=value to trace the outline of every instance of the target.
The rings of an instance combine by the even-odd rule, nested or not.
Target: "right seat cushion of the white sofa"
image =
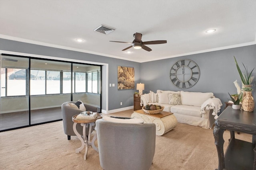
[[[202,117],[201,107],[197,106],[175,105],[171,107],[171,112],[181,115]]]

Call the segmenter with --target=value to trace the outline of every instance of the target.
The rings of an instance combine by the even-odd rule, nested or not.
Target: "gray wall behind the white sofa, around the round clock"
[[[148,93],[149,90],[156,92],[158,89],[180,91],[181,89],[176,88],[170,80],[170,68],[180,59],[190,59],[198,65],[200,78],[193,87],[183,91],[213,92],[214,96],[222,101],[223,111],[224,102],[229,100],[228,92],[236,93],[233,82],[238,80],[242,85],[233,56],[236,57],[242,72],[244,71],[242,63],[248,66],[250,71],[256,67],[256,45],[141,63],[140,81],[145,84],[143,92]],[[252,94],[256,98],[256,68],[252,75],[255,76],[252,82]]]

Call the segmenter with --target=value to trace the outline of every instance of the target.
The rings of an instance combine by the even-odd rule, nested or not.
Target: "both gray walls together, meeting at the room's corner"
[[[183,57],[176,57],[146,63],[136,63],[132,61],[114,59],[100,55],[45,47],[41,45],[22,43],[7,39],[0,39],[0,50],[60,57],[66,59],[76,59],[82,61],[108,63],[108,84],[115,84],[115,87],[108,87],[109,110],[133,106],[133,93],[137,91],[136,89],[117,89],[117,67],[119,65],[134,67],[135,85],[136,83],[140,82],[144,83],[145,90],[143,91],[143,93],[147,93],[149,92],[149,90],[156,92],[156,90],[158,89],[180,91],[181,89],[176,88],[170,81],[170,68],[176,61],[180,59],[190,59],[198,64],[200,68],[200,78],[192,88],[188,88],[184,91],[213,92],[217,98],[220,98],[223,105],[225,105],[224,102],[228,101],[228,92],[230,92],[230,94],[236,93],[236,88],[233,82],[235,80],[238,80],[238,82],[241,84],[241,80],[237,72],[233,56],[236,57],[240,68],[242,68],[242,62],[246,66],[248,66],[249,70],[256,67],[256,45],[213,51],[196,55],[187,55]],[[106,70],[103,69],[103,76],[105,71]],[[253,76],[256,76],[256,70],[254,70]],[[105,77],[102,77],[102,80],[104,79]],[[254,98],[256,98],[256,78],[254,78],[252,84],[254,86],[253,96]],[[103,84],[102,89],[104,88],[105,86]],[[102,93],[102,96],[104,96],[105,92]],[[102,109],[106,109],[106,106],[104,106],[105,102],[106,101],[103,97]],[[122,106],[120,106],[120,102],[122,102]],[[222,107],[222,110],[223,108],[224,106]]]

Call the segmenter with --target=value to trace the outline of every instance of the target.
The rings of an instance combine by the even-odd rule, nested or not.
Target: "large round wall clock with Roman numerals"
[[[182,89],[194,86],[199,76],[199,67],[194,61],[188,59],[177,61],[170,70],[172,84]]]

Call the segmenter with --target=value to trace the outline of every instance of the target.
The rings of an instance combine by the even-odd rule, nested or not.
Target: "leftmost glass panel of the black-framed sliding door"
[[[0,130],[29,125],[29,59],[1,56]]]

